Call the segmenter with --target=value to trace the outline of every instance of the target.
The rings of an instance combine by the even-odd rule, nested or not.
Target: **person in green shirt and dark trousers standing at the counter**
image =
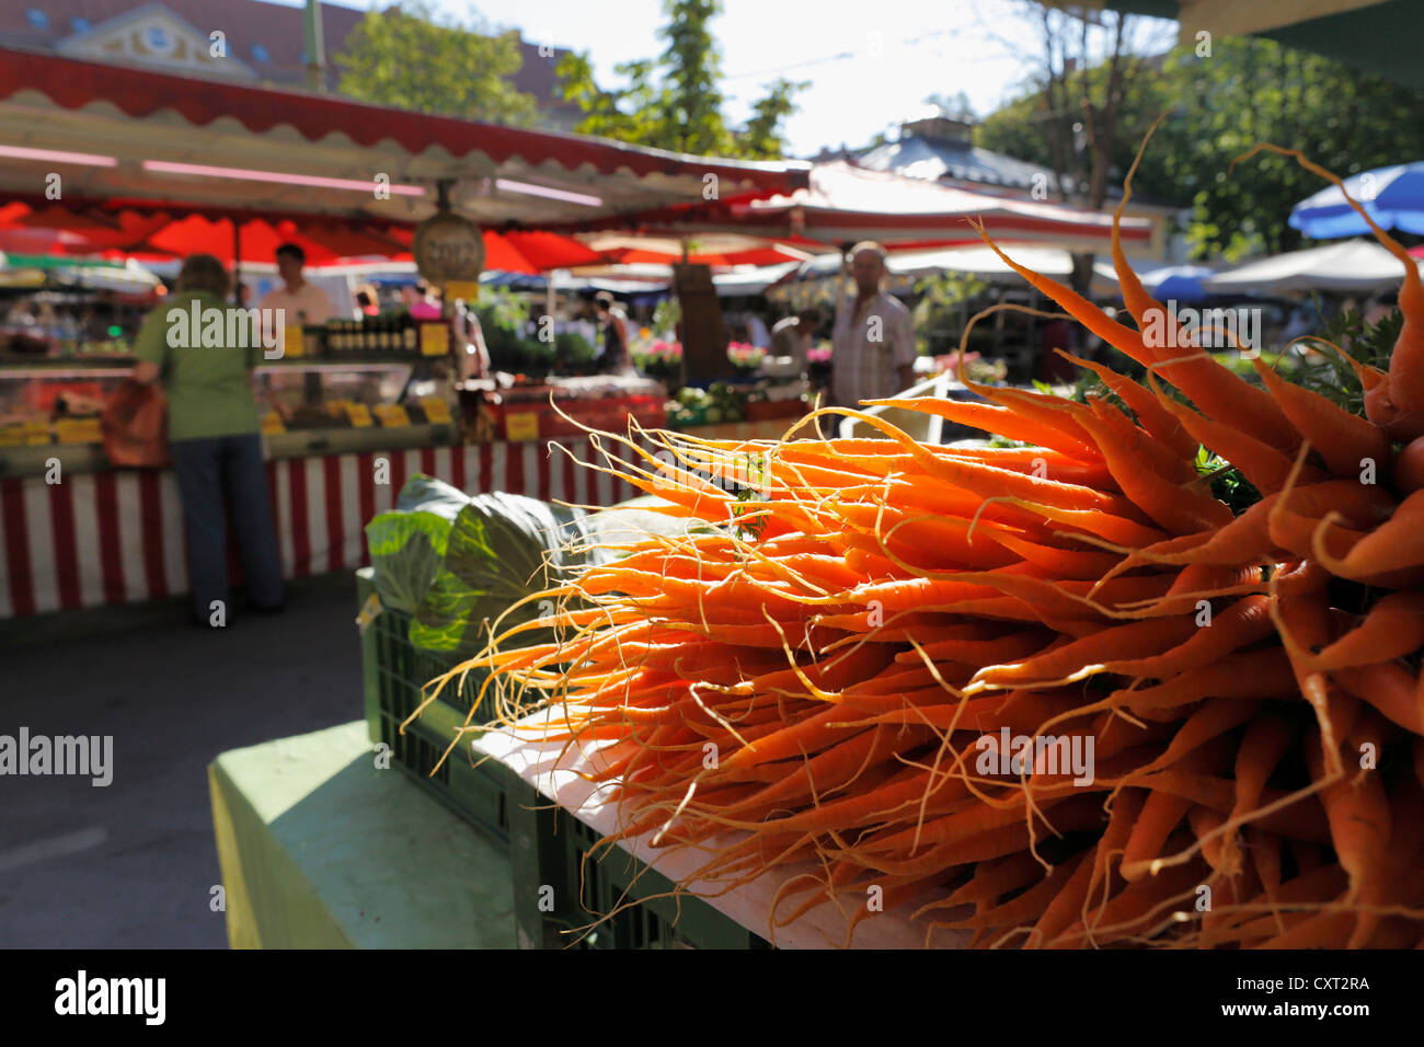
[[[168,397],[168,443],[188,533],[194,623],[202,627],[224,625],[228,618],[224,496],[232,503],[249,603],[259,611],[276,611],[283,600],[251,382],[262,350],[261,326],[234,322],[246,318],[229,316],[228,291],[222,262],[191,255],[174,293],[144,321],[134,345],[134,377],[145,383],[161,379]],[[212,311],[221,313],[221,335]]]

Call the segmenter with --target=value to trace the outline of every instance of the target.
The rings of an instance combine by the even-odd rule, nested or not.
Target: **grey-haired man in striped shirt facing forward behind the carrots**
[[[850,251],[854,298],[836,309],[832,335],[832,396],[836,406],[859,407],[914,385],[914,323],[910,311],[881,289],[886,251],[866,241]]]

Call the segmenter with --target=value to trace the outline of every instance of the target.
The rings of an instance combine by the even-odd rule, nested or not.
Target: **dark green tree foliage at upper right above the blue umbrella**
[[[1200,53],[1199,53],[1200,51]],[[1092,90],[1102,64],[1068,75]],[[1341,177],[1424,157],[1424,91],[1272,40],[1218,38],[1139,61],[1126,83],[1109,178],[1121,182],[1159,115],[1134,192],[1190,208],[1193,256],[1277,254],[1302,245],[1290,208],[1323,182],[1276,155],[1232,170],[1260,141],[1299,148]],[[985,148],[1061,170],[1047,93],[1034,83],[975,128]]]

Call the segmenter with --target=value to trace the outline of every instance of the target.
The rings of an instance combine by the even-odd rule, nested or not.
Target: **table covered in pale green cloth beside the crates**
[[[514,949],[506,850],[377,768],[365,721],[208,768],[234,949]]]

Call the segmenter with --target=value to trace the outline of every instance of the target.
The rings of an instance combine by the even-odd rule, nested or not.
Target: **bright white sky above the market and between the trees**
[[[600,85],[618,63],[652,58],[664,44],[661,0],[436,0],[468,21],[471,10],[531,43],[590,51]],[[369,3],[350,3],[369,7]],[[384,7],[384,3],[377,4]],[[726,114],[740,123],[778,75],[809,80],[786,121],[792,155],[863,145],[921,110],[927,95],[968,94],[978,115],[1014,97],[1037,53],[1017,0],[723,0],[712,23],[722,48]],[[1146,23],[1171,43],[1171,23]],[[1155,30],[1155,33],[1152,33]]]

